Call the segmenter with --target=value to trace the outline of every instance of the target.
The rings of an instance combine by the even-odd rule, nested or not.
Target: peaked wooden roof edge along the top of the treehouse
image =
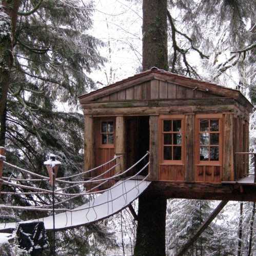
[[[127,88],[127,86],[134,86],[150,80],[162,80],[172,84],[192,88],[193,90],[196,89],[211,94],[215,94],[216,97],[221,96],[232,98],[240,104],[244,105],[249,112],[251,112],[253,109],[253,105],[239,90],[230,89],[214,83],[196,80],[194,78],[179,74],[174,74],[172,72],[157,69],[155,67],[151,68],[150,70],[141,72],[139,74],[129,76],[121,81],[105,86],[101,89],[97,89],[90,93],[80,95],[78,96],[78,99],[80,99],[80,101],[82,100],[83,103],[92,102],[105,95],[125,89]]]

